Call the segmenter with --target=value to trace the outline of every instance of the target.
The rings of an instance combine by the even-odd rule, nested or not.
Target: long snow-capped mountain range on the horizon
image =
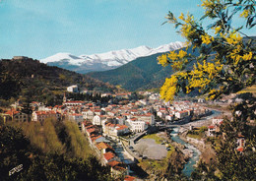
[[[75,56],[70,53],[57,53],[41,59],[40,62],[79,73],[88,73],[114,69],[136,58],[179,49],[183,46],[182,42],[176,41],[161,45],[158,48],[139,46],[133,49],[121,49],[93,55]]]

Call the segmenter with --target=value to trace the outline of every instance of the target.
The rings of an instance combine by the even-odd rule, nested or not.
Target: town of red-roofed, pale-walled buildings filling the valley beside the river
[[[224,121],[220,112],[218,116],[212,116],[212,119],[200,123],[200,126],[190,124],[213,114],[213,111],[205,106],[205,100],[202,98],[193,101],[177,100],[170,104],[161,100],[159,93],[149,91],[139,91],[141,99],[137,100],[133,99],[131,92],[101,93],[102,97],[110,97],[107,103],[101,104],[98,101],[69,99],[66,92],[78,93],[78,86],[67,88],[63,93],[61,105],[46,106],[42,102],[32,101],[32,114],[26,114],[21,111],[22,102],[18,100],[1,116],[4,122],[42,123],[45,119],[53,118],[77,123],[81,132],[88,138],[90,147],[96,152],[100,163],[109,165],[113,175],[127,175],[127,180],[136,178],[133,177],[136,173],[133,174],[130,170],[132,165],[138,160],[148,158],[144,151],[140,151],[138,147],[135,149],[135,143],[143,136],[186,124],[187,127],[182,127],[182,132],[185,129],[191,133],[196,127],[208,126],[205,130],[207,136],[214,137],[216,133],[220,133],[220,125]],[[191,143],[191,140],[193,139],[187,139],[187,142]],[[200,144],[201,141],[195,142]],[[243,151],[244,146],[244,137],[238,135],[237,151]],[[166,148],[166,151],[169,149]]]

